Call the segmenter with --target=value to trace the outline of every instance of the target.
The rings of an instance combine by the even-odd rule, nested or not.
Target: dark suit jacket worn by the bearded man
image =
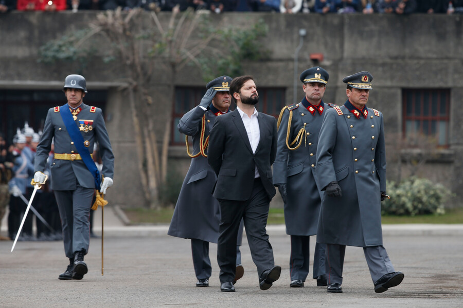
[[[210,131],[207,161],[217,174],[213,196],[245,201],[251,198],[255,168],[269,200],[275,196],[271,165],[277,149],[276,119],[259,112],[260,140],[253,153],[238,109],[216,118]]]

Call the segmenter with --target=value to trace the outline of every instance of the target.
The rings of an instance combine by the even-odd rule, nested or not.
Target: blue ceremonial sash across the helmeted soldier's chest
[[[64,126],[66,126],[67,132],[69,133],[69,137],[74,142],[74,145],[76,146],[85,166],[87,166],[88,171],[90,171],[92,176],[95,178],[95,189],[100,190],[100,172],[90,156],[90,151],[88,151],[88,148],[84,146],[82,134],[73,119],[73,115],[70,113],[68,104],[64,104],[60,107],[60,114],[63,119]]]

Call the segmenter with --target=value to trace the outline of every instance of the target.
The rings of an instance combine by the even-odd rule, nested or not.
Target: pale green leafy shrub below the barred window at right
[[[381,202],[383,215],[445,214],[444,203],[452,196],[442,184],[415,177],[399,184],[388,181],[387,194],[390,199]]]

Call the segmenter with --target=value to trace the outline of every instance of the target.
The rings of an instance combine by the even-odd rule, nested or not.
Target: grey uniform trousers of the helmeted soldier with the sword
[[[84,249],[88,253],[90,244],[90,208],[94,188],[77,185],[76,190],[55,190],[63,227],[64,252],[74,258],[74,253]]]

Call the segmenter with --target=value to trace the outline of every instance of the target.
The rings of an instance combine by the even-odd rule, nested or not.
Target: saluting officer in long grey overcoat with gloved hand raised
[[[191,239],[194,273],[197,286],[208,286],[212,267],[209,259],[209,242],[217,243],[219,237],[220,209],[212,188],[216,174],[207,163],[209,131],[219,115],[229,112],[231,77],[220,76],[206,85],[201,103],[185,113],[177,128],[186,135],[190,168],[175,205],[168,235]],[[192,136],[193,149],[190,153],[188,136]],[[239,245],[243,235],[241,223],[237,244],[237,268],[235,280],[243,276]]]

